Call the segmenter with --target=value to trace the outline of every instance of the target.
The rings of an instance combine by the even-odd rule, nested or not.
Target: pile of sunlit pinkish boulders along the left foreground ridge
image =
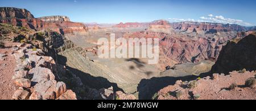
[[[46,57],[41,49],[32,49],[31,44],[20,44],[14,50],[17,63],[13,76],[20,87],[13,95],[14,100],[76,99],[72,91],[67,92],[66,84],[57,82],[56,63]]]

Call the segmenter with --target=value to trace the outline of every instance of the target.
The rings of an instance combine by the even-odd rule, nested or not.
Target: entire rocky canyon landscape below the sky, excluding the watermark
[[[1,49],[0,53],[15,49],[15,61],[10,62],[20,61],[21,58],[15,54],[26,55],[22,59],[34,64],[23,68],[28,75],[35,71],[49,74],[35,78],[24,76],[23,79],[34,85],[20,88],[20,83],[18,86],[13,84],[14,89],[10,89],[16,95],[13,99],[30,99],[38,95],[42,96],[40,99],[144,100],[152,99],[153,96],[157,96],[154,99],[176,99],[171,93],[176,93],[176,90],[184,93],[180,99],[190,99],[190,92],[198,95],[197,92],[207,83],[218,85],[224,79],[229,80],[220,84],[218,89],[228,87],[226,85],[232,82],[242,85],[246,79],[254,76],[256,70],[255,27],[220,23],[170,23],[166,20],[119,24],[76,23],[71,22],[68,16],[35,18],[30,11],[20,8],[0,7],[0,12],[0,36],[7,47]],[[110,33],[125,39],[158,38],[159,62],[150,65],[147,63],[150,58],[99,58],[97,51],[101,45],[97,44],[97,40],[101,37],[110,40]],[[6,54],[13,57],[9,51]],[[3,62],[10,64],[6,60]],[[15,66],[10,67],[15,69]],[[243,72],[245,76],[237,72],[243,69],[247,70]],[[7,70],[1,74],[4,71]],[[24,74],[24,71],[19,74]],[[232,77],[228,75],[230,72]],[[15,75],[18,72],[14,70],[12,73]],[[209,79],[213,74],[222,75],[218,81],[214,81]],[[46,76],[49,78],[44,78]],[[242,79],[236,81],[237,78]],[[201,83],[198,89],[190,91],[181,87],[187,86],[191,80]],[[36,86],[42,89],[47,86],[49,90],[40,91]],[[241,89],[247,93],[247,98],[254,97],[253,89]],[[222,94],[229,97],[226,93]],[[23,94],[26,97],[22,98]],[[218,99],[216,97],[219,96],[200,95],[200,99]],[[6,99],[11,99],[11,96],[6,96],[9,97]]]

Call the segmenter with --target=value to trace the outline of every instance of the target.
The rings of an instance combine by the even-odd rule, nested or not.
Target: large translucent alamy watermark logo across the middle
[[[106,38],[98,40],[99,58],[148,58],[148,64],[159,61],[159,38],[129,38],[115,39],[115,34],[110,34],[110,41]]]

